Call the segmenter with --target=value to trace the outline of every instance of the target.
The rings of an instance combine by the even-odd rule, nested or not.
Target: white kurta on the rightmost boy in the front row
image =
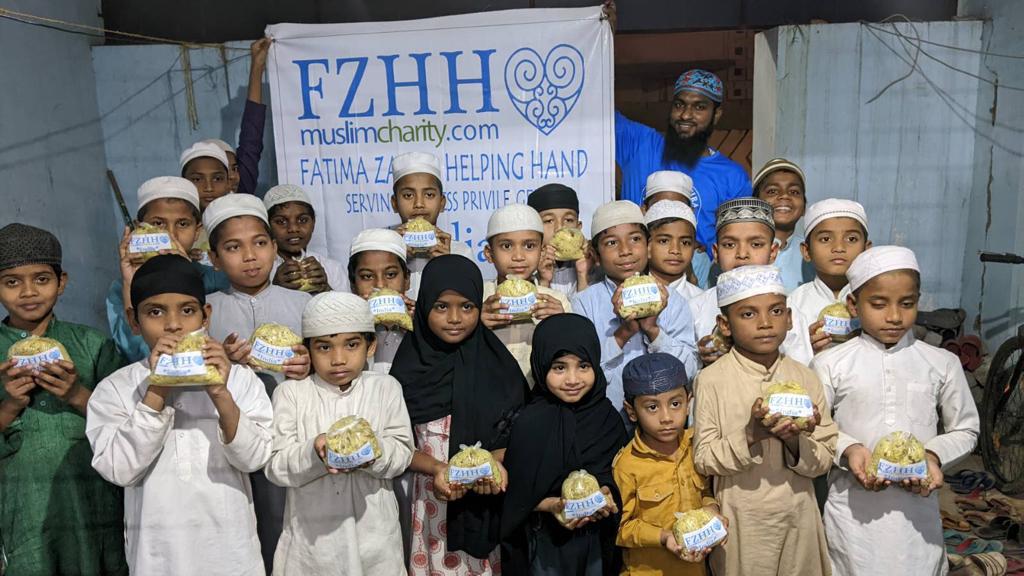
[[[902,430],[943,467],[969,454],[980,420],[959,360],[912,332],[889,349],[865,334],[819,354],[813,368],[840,428],[824,511],[833,571],[945,574],[938,493],[867,492],[845,467],[843,453],[857,443],[870,450],[883,436]]]

